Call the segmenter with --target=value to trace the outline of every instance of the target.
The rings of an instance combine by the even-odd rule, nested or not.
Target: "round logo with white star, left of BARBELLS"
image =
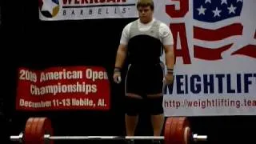
[[[58,0],[38,0],[39,10],[46,18],[53,18],[58,14]]]

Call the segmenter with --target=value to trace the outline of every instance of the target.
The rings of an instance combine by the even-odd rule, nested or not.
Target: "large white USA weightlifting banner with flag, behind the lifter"
[[[174,34],[166,116],[256,114],[256,1],[161,0],[155,18]]]

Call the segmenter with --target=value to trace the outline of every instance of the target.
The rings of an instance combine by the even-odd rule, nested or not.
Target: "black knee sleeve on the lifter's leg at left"
[[[126,114],[130,116],[137,115],[141,111],[142,99],[139,98],[125,98],[126,103]]]

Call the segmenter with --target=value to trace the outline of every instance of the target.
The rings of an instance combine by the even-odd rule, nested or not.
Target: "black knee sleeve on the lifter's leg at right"
[[[147,106],[148,110],[150,111],[150,114],[163,114],[162,98],[162,96],[155,98],[147,98]]]

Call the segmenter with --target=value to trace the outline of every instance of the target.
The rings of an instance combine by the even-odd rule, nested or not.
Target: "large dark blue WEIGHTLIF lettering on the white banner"
[[[191,76],[183,74],[175,75],[174,83],[164,86],[163,93],[241,94],[249,93],[249,90],[252,89],[252,85],[254,86],[254,84],[256,84],[256,74],[192,74]],[[214,91],[214,86],[218,86],[216,87],[216,91]],[[256,87],[254,86],[254,88]]]

